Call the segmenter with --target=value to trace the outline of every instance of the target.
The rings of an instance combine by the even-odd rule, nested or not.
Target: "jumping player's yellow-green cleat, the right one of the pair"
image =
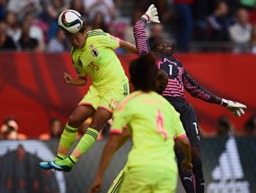
[[[51,165],[51,168],[57,171],[64,171],[64,172],[70,172],[72,170],[73,165],[75,165],[75,162],[71,159],[70,156],[68,156],[64,160],[60,161],[49,161],[49,165]]]

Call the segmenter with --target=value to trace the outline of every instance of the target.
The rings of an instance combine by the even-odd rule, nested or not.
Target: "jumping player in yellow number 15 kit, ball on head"
[[[73,165],[95,143],[102,126],[111,119],[113,110],[129,94],[129,83],[125,71],[114,50],[121,47],[137,54],[136,47],[126,41],[103,32],[86,32],[86,23],[75,10],[66,10],[58,19],[60,28],[72,45],[71,58],[77,79],[64,72],[63,81],[69,85],[86,85],[87,76],[92,85],[84,98],[69,116],[62,133],[57,156],[53,161],[39,163],[45,170],[55,169],[69,172]],[[88,130],[75,150],[68,156],[77,130],[90,116],[93,117]]]

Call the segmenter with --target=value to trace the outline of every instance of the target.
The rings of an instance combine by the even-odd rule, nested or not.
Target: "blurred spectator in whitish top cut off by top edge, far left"
[[[42,12],[42,6],[40,0],[10,0],[7,6],[8,11],[15,12],[18,17],[18,21],[23,21],[25,15],[28,12],[40,14]]]

